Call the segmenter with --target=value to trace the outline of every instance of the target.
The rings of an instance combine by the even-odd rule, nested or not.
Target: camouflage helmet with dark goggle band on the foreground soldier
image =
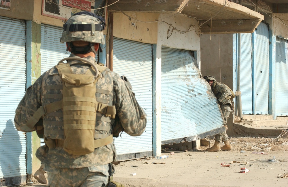
[[[85,54],[94,50],[94,43],[105,44],[105,38],[102,31],[105,29],[105,20],[94,13],[82,11],[75,13],[63,25],[63,33],[60,42],[67,42],[71,52]],[[89,46],[76,47],[72,42],[85,41],[90,42]],[[100,45],[99,45],[100,47]],[[99,48],[102,52],[101,48]]]

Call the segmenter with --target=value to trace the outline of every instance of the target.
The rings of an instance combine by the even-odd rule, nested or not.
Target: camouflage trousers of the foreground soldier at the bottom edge
[[[48,172],[48,186],[80,186],[103,187],[107,185],[109,178],[109,166],[91,166],[84,168],[56,168],[46,167]]]

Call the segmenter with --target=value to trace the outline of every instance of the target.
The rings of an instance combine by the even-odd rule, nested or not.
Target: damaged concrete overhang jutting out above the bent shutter
[[[108,4],[116,1],[108,0]],[[251,33],[264,19],[260,13],[228,0],[125,0],[109,6],[108,11],[178,12],[199,20],[202,34]]]

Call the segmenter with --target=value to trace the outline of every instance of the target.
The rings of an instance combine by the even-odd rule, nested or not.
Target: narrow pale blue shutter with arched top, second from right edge
[[[255,38],[255,114],[268,114],[269,30],[265,23],[256,29]]]

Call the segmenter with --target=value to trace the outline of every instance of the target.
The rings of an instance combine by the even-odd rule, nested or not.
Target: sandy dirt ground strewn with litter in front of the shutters
[[[288,139],[274,138],[233,137],[229,139],[231,151],[207,152],[203,146],[192,151],[164,149],[166,159],[151,157],[114,165],[114,180],[125,187],[287,187],[288,178],[277,177],[288,175]],[[212,146],[214,140],[209,140]],[[221,163],[230,166],[222,167]],[[249,172],[240,173],[241,168]],[[43,185],[35,182],[33,186]]]

